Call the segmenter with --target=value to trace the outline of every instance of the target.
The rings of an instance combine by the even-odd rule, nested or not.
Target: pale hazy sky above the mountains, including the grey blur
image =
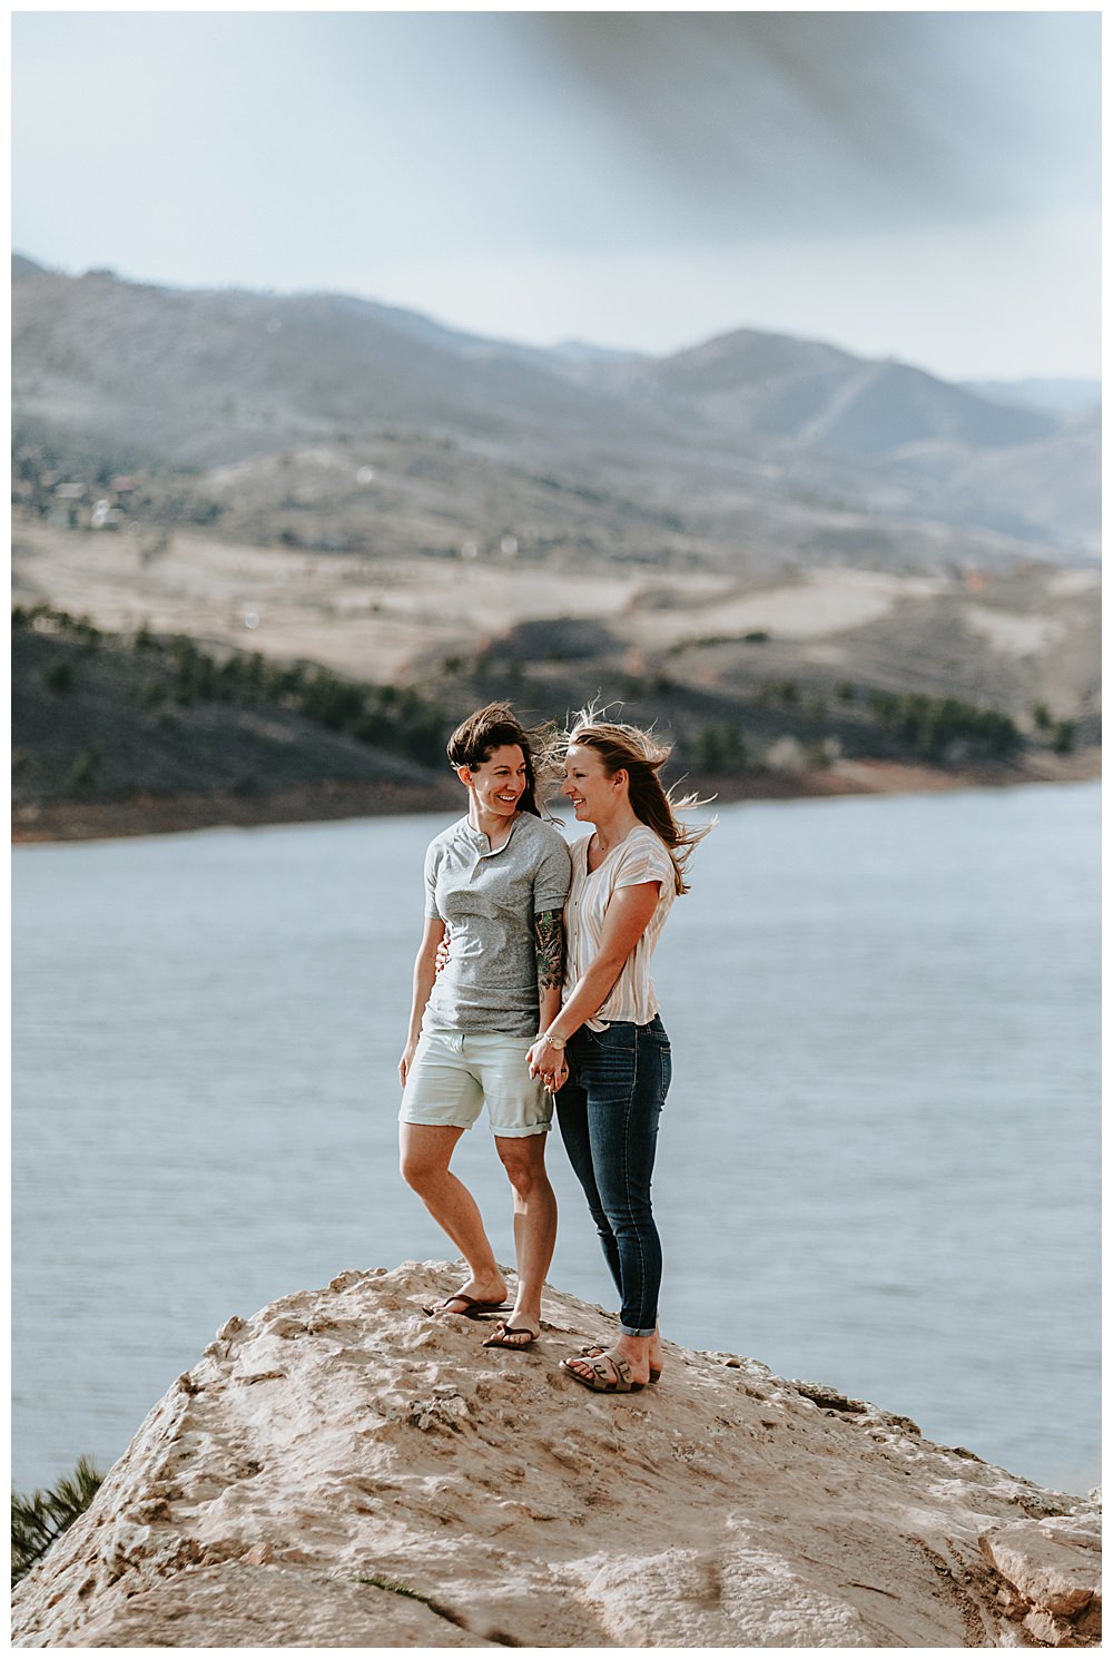
[[[17,12],[13,86],[68,272],[1098,373],[1098,12]]]

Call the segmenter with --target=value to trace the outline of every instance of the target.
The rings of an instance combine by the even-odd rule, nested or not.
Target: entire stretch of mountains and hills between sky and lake
[[[13,279],[18,833],[454,803],[493,697],[622,705],[723,795],[1096,768],[1085,410],[753,330]]]

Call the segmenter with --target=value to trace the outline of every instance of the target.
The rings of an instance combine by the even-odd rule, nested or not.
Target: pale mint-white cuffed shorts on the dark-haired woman
[[[486,1100],[493,1135],[544,1135],[552,1128],[552,1097],[529,1075],[527,1053],[529,1037],[421,1032],[398,1121],[469,1130]]]

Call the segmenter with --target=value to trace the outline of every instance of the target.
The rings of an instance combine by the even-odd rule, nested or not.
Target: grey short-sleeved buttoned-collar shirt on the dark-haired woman
[[[514,820],[498,853],[466,818],[443,830],[425,854],[425,914],[451,942],[421,1029],[536,1035],[534,916],[562,911],[571,881],[564,841],[532,813]]]

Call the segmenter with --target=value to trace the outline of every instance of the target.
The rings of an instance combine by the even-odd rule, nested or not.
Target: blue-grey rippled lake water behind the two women
[[[17,1486],[229,1314],[451,1254],[395,1168],[443,821],[17,849]],[[1098,1480],[1096,833],[1096,785],[723,810],[657,957],[667,1335]],[[614,1306],[549,1161],[552,1281]],[[486,1131],[459,1170],[513,1261]]]

